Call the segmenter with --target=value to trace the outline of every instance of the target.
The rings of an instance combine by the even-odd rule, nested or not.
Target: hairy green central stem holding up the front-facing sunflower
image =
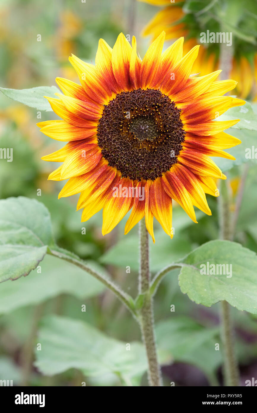
[[[149,239],[148,231],[142,220],[139,222],[139,294],[144,294],[140,309],[140,327],[148,360],[148,380],[150,386],[162,386],[158,364],[153,320],[153,298],[150,292]]]

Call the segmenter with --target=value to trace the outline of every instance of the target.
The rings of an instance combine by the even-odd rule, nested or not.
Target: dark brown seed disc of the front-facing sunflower
[[[180,110],[160,90],[116,95],[104,106],[97,128],[103,157],[123,177],[156,179],[177,162],[185,131]]]

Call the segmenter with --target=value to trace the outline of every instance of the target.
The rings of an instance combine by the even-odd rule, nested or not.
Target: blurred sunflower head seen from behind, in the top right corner
[[[232,33],[231,45],[226,47],[226,54],[231,55],[227,73],[238,82],[236,93],[243,99],[255,98],[256,95],[256,45],[257,45],[257,14],[256,2],[239,1],[182,1],[138,0],[154,6],[166,6],[161,9],[145,26],[144,36],[152,39],[162,30],[167,33],[167,39],[175,40],[185,36],[185,50],[200,43],[201,33]],[[233,38],[233,39],[232,39]],[[200,51],[201,63],[196,62],[192,73],[205,75],[217,67],[223,68],[220,44],[202,43]]]

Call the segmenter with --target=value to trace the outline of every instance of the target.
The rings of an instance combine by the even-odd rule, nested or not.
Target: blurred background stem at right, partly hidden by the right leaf
[[[231,240],[231,211],[228,183],[221,181],[219,199],[220,238]],[[239,370],[233,342],[233,325],[230,317],[230,306],[227,301],[221,301],[221,338],[224,347],[224,383],[225,386],[239,385]]]

